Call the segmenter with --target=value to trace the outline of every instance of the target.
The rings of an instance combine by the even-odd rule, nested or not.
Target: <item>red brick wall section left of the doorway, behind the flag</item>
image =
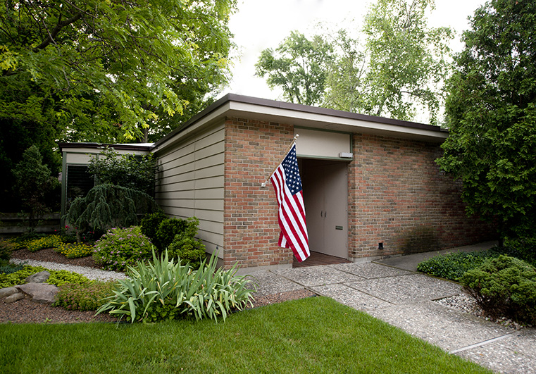
[[[270,182],[294,137],[292,125],[228,118],[225,122],[223,261],[230,268],[292,263],[292,251],[278,247],[278,204]]]

